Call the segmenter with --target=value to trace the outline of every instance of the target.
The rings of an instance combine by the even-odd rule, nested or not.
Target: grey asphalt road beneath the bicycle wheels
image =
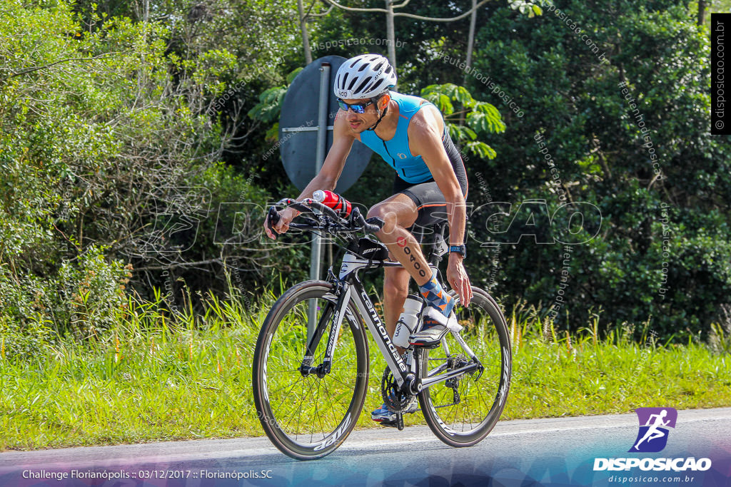
[[[503,421],[480,444],[451,448],[426,426],[379,428],[306,462],[265,437],[7,451],[0,486],[731,486],[731,408],[678,411],[660,453],[627,453],[637,429],[635,414]],[[619,457],[708,458],[712,467],[594,472],[596,458]]]

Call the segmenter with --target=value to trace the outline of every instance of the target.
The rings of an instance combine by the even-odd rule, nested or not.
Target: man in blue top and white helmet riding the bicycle
[[[467,177],[464,164],[450,138],[441,112],[429,101],[391,91],[396,74],[387,58],[378,54],[358,55],[345,61],[335,77],[334,91],[341,110],[333,123],[333,145],[322,169],[298,199],[311,198],[319,189],[333,191],[346,158],[359,140],[378,153],[395,169],[393,196],[374,205],[368,217],[385,224],[376,234],[389,250],[390,258],[403,267],[387,267],[384,279],[384,318],[388,333],[393,331],[409,292],[409,278],[419,285],[428,304],[423,313],[423,329],[412,337],[414,345],[434,345],[448,327],[457,326],[453,300],[442,289],[420,248],[420,238],[412,231],[444,221],[450,228],[450,255],[447,281],[466,306],[472,298],[469,277],[462,264],[466,256],[465,196]],[[299,212],[286,208],[279,212],[274,230],[282,234]],[[275,235],[268,229],[268,237]],[[416,402],[406,412],[416,410]],[[371,414],[374,421],[395,424],[395,413],[386,405]]]

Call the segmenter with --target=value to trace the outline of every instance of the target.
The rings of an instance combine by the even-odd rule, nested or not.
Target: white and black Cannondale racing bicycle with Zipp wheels
[[[366,235],[383,222],[366,220],[357,207],[344,217],[312,199],[283,199],[270,208],[270,225],[278,221],[278,207],[302,212],[290,229],[344,240],[344,256],[338,275],[330,268],[327,280],[292,286],[262,324],[254,351],[254,404],[273,444],[292,458],[311,460],[344,442],[368,390],[366,329],[387,364],[381,395],[396,413],[399,430],[417,396],[429,428],[447,445],[471,446],[485,438],[505,407],[512,366],[507,323],[495,300],[473,286],[474,298],[463,307],[449,291],[457,299],[461,330],[450,330],[436,347],[410,345],[401,355],[360,279],[361,271],[401,266],[387,259],[385,245]],[[432,269],[447,250],[444,227],[436,225],[425,237]]]

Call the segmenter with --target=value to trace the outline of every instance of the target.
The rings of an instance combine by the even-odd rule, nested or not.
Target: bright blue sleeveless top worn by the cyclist
[[[406,183],[425,183],[432,179],[431,172],[421,156],[412,156],[411,150],[409,150],[408,129],[409,122],[416,112],[425,104],[433,105],[433,103],[417,96],[395,93],[395,91],[391,91],[390,95],[391,99],[398,103],[398,126],[396,126],[393,139],[383,140],[376,135],[375,131],[366,130],[360,132],[360,142],[378,153]],[[446,129],[444,126],[445,132]]]

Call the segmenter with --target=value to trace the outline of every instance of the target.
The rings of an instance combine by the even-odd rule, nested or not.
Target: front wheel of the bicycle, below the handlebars
[[[330,373],[300,373],[306,355],[308,308],[327,323],[313,353],[322,364],[338,296],[325,281],[289,288],[262,325],[254,351],[254,404],[262,427],[283,453],[299,460],[319,459],[345,440],[363,409],[368,386],[368,342],[360,315],[349,304],[333,351]],[[324,318],[323,318],[324,317]]]

